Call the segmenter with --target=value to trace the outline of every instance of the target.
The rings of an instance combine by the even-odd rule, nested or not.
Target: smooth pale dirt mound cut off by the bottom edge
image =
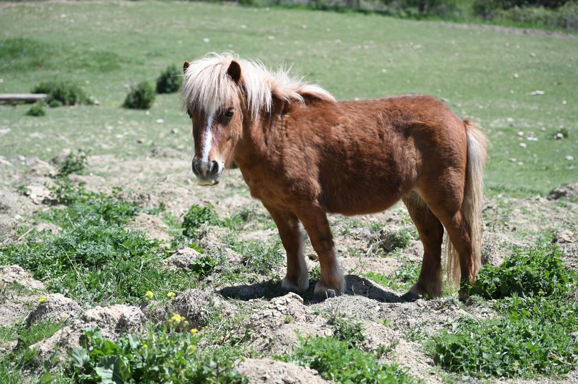
[[[246,359],[236,370],[254,384],[325,384],[316,370],[271,359]]]

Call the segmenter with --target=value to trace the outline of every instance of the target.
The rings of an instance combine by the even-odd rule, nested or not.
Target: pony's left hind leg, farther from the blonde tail
[[[413,301],[426,295],[430,298],[442,296],[443,225],[416,191],[404,197],[403,204],[407,207],[424,244],[424,257],[417,283],[409,288],[402,300]]]

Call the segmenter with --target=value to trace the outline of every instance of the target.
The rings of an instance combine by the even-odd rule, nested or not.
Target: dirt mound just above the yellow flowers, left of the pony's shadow
[[[209,319],[218,316],[232,317],[237,312],[237,307],[227,300],[221,298],[216,293],[201,289],[188,289],[176,296],[164,306],[153,306],[149,310],[149,316],[153,321],[159,322],[165,319],[168,314],[179,314],[188,322],[190,328],[200,328],[209,321]]]

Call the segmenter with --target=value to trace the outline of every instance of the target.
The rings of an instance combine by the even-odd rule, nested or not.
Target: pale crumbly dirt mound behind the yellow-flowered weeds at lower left
[[[65,356],[66,351],[79,347],[84,329],[98,328],[102,336],[116,340],[124,332],[140,332],[146,317],[139,308],[116,304],[110,307],[94,307],[76,318],[53,336],[31,345],[31,349],[38,348],[40,359],[49,359],[55,351]]]

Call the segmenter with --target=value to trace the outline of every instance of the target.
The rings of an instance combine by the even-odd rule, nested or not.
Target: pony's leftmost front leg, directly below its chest
[[[303,292],[309,288],[309,274],[303,251],[303,233],[299,229],[299,220],[290,212],[279,212],[265,206],[277,229],[281,243],[287,252],[287,275],[281,282],[281,288],[287,292]]]

